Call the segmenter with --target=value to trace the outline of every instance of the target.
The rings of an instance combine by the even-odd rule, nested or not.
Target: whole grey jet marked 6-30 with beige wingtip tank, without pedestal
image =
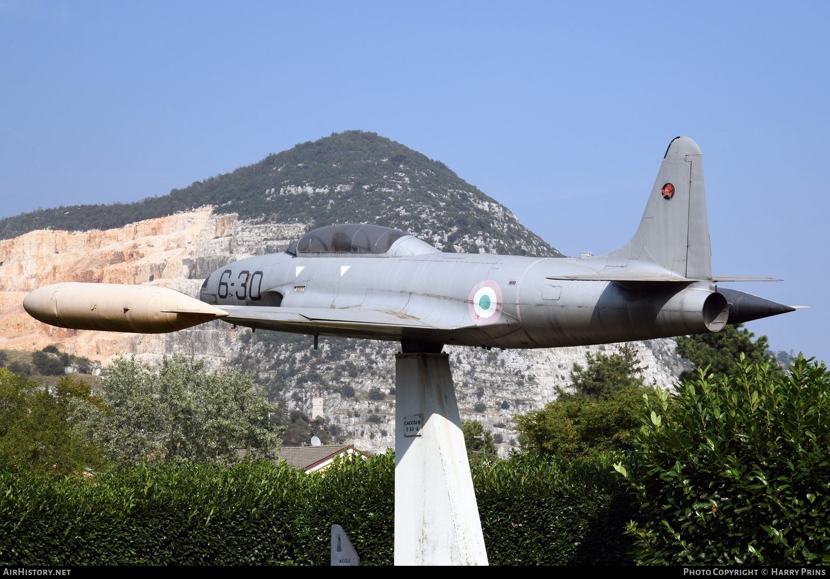
[[[717,332],[793,311],[712,275],[701,151],[677,137],[631,241],[606,255],[540,258],[437,250],[406,231],[326,226],[283,253],[238,260],[199,299],[153,286],[61,283],[28,294],[55,326],[160,333],[222,319],[256,329],[399,341],[551,348]]]

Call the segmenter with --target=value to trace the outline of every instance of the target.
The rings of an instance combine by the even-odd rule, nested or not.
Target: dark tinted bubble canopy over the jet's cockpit
[[[409,236],[406,231],[368,225],[344,223],[309,231],[300,237],[297,253],[386,253],[395,241]]]

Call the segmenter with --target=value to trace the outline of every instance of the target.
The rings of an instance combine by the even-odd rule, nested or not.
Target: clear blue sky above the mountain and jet
[[[447,163],[567,255],[703,152],[715,273],[828,358],[827,2],[7,2],[0,217],[163,195],[332,131]]]

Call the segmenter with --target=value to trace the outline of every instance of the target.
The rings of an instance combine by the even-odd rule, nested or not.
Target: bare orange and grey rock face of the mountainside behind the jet
[[[276,193],[275,193],[276,194]],[[118,354],[154,362],[188,353],[208,367],[256,372],[272,400],[290,410],[312,413],[312,397],[323,398],[323,413],[348,444],[382,452],[394,446],[394,353],[398,343],[345,338],[312,338],[232,329],[221,321],[169,334],[106,333],[54,328],[23,310],[27,292],[60,281],[161,285],[198,295],[212,270],[251,255],[284,251],[309,228],[305,223],[241,220],[237,214],[202,207],[169,217],[139,221],[107,231],[31,231],[0,241],[0,348],[36,350],[56,344],[61,351],[100,360]],[[432,241],[432,240],[429,240]],[[479,251],[495,244],[473,240]],[[652,379],[671,386],[683,369],[671,339],[635,343]],[[458,405],[465,420],[478,420],[504,442],[515,444],[511,417],[544,406],[556,387],[569,384],[574,362],[587,352],[613,352],[614,344],[540,350],[488,351],[447,347]],[[354,388],[354,396],[349,396]],[[373,400],[373,389],[383,393]],[[374,393],[374,398],[378,398]],[[483,403],[485,410],[475,410]],[[479,406],[481,407],[481,406]]]

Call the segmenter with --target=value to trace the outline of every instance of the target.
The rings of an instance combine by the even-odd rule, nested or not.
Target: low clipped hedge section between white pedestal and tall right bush
[[[610,460],[528,453],[473,467],[491,565],[631,565],[638,520]]]

